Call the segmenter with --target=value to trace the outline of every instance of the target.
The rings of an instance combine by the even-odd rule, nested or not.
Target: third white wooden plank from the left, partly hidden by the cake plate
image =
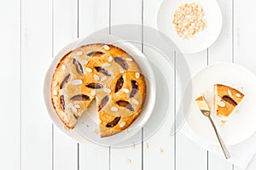
[[[53,55],[57,54],[68,42],[77,37],[77,1],[55,0],[53,7]],[[64,19],[64,20],[63,20]],[[53,56],[53,57],[54,57]],[[53,131],[54,169],[69,170],[78,167],[78,144],[69,139],[57,127]]]

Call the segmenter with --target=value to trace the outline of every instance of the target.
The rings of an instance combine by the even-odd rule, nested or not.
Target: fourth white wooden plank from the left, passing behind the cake
[[[109,2],[106,0],[79,0],[79,37],[109,26]],[[108,33],[108,32],[106,32]],[[79,145],[80,169],[109,169],[109,148],[96,144]]]

